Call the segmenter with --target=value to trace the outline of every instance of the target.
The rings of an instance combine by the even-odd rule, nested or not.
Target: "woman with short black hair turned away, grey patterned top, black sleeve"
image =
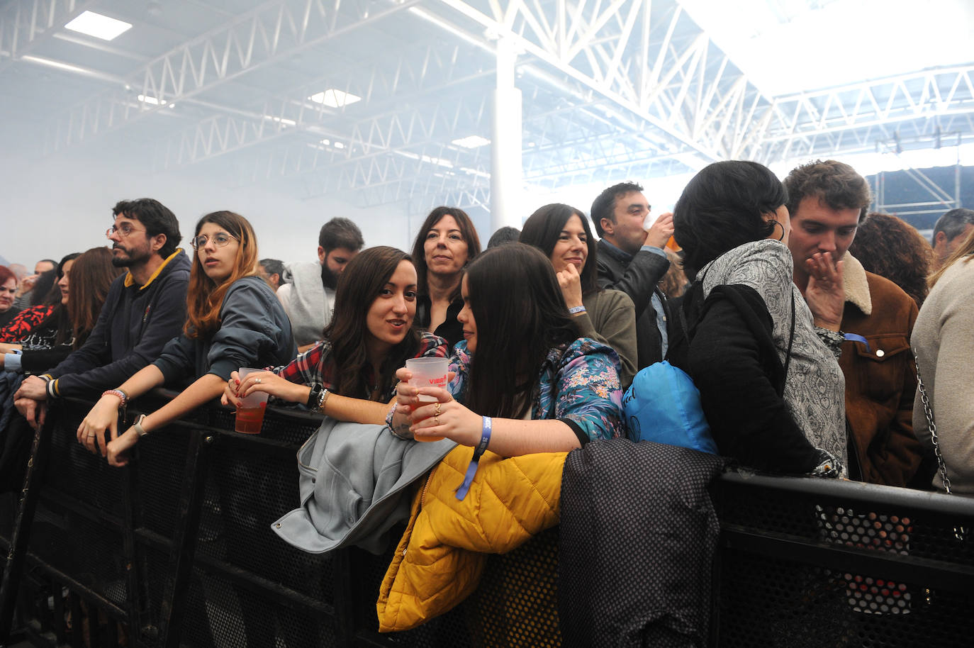
[[[787,200],[754,162],[712,164],[684,189],[673,222],[696,279],[683,305],[687,355],[671,362],[693,377],[722,454],[762,470],[839,476],[843,337],[814,326],[792,281]],[[841,262],[816,254],[810,264],[808,303],[838,303],[841,313]]]

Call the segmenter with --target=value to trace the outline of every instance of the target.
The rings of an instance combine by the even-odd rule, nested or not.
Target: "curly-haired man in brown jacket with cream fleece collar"
[[[869,184],[850,166],[817,160],[784,180],[792,231],[787,238],[795,285],[844,292],[832,314],[845,334],[839,363],[845,376],[849,476],[895,486],[911,484],[920,465],[913,431],[917,389],[910,334],[917,304],[899,286],[867,272],[847,253],[872,201]],[[833,274],[827,270],[835,268]]]

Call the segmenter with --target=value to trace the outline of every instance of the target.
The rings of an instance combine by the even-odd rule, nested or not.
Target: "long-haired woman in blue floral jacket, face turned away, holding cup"
[[[393,434],[446,437],[503,456],[571,450],[622,434],[618,356],[580,336],[537,248],[487,250],[469,265],[461,294],[455,376],[448,389],[399,385]],[[413,378],[405,367],[396,375]]]

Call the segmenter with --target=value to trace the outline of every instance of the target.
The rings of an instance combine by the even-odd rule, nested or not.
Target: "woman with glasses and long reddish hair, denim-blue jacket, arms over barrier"
[[[287,362],[297,353],[281,302],[257,274],[257,239],[246,218],[233,211],[207,213],[196,224],[191,245],[196,261],[182,334],[166,345],[159,360],[106,391],[78,427],[78,441],[107,456],[112,466],[125,466],[129,450],[143,435],[218,397],[237,367]],[[197,378],[118,434],[120,406],[187,376]],[[107,445],[106,430],[111,434]]]

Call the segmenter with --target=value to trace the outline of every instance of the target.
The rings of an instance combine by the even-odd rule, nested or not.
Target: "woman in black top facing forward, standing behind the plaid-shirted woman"
[[[468,262],[480,253],[480,239],[464,210],[437,207],[423,221],[413,244],[419,279],[416,324],[445,338],[450,346],[463,339],[457,313],[464,307],[460,279]]]

